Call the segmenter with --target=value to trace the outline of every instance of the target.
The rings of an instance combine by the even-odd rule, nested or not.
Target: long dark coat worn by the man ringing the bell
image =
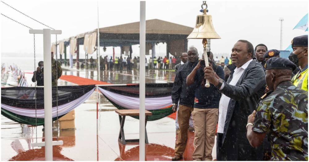
[[[234,70],[224,81],[223,94],[231,98],[224,125],[222,147],[218,160],[262,160],[263,144],[253,148],[247,139],[248,116],[256,110],[259,98],[264,94],[266,82],[263,66],[253,60],[235,86],[229,85]]]

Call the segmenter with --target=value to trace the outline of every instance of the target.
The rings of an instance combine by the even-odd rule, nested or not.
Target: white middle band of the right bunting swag
[[[108,99],[127,109],[139,109],[139,98],[129,97],[99,87],[101,93],[103,93]],[[158,110],[172,105],[171,96],[158,97],[158,98],[146,98],[145,109],[146,110]]]

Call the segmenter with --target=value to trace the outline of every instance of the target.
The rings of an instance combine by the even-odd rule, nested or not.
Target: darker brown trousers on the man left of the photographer
[[[184,150],[186,149],[188,139],[189,119],[192,111],[193,107],[179,105],[178,116],[177,116],[179,130],[178,130],[178,138],[175,143],[175,155],[182,156]]]

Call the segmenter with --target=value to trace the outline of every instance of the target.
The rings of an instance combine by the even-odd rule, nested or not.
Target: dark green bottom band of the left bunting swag
[[[21,124],[28,124],[28,125],[36,125],[36,119],[37,119],[37,125],[44,125],[44,118],[31,118],[28,116],[23,116],[19,114],[12,113],[10,111],[7,111],[5,109],[1,108],[1,115],[5,116],[6,118],[9,118],[17,123]],[[65,115],[65,114],[64,114]],[[58,118],[61,118],[63,115],[58,116]],[[57,117],[53,118],[53,121],[57,120]]]

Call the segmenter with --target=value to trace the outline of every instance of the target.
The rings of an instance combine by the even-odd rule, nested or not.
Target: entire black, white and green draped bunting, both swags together
[[[152,112],[148,121],[173,113],[171,90],[173,84],[146,84],[145,109]],[[99,91],[117,109],[139,109],[139,85],[100,86]],[[90,97],[95,85],[58,86],[58,114],[56,87],[52,87],[52,117],[67,114]],[[35,100],[36,98],[36,100]],[[37,109],[37,110],[35,110]],[[15,122],[44,124],[44,87],[8,87],[1,89],[1,114]],[[132,116],[137,118],[138,116]]]

